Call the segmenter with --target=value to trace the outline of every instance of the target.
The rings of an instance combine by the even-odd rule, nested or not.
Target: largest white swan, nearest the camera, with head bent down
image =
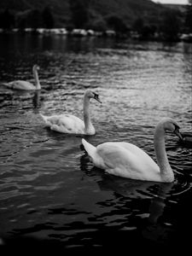
[[[182,138],[177,122],[170,118],[160,120],[154,131],[154,149],[158,165],[143,149],[131,143],[108,142],[97,147],[84,139],[82,143],[94,166],[110,174],[143,181],[172,183],[174,174],[166,155],[166,131],[172,131]]]

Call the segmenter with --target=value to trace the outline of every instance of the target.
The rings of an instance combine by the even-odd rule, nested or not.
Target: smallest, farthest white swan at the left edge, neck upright
[[[15,80],[9,83],[5,83],[3,85],[7,86],[9,89],[14,89],[14,90],[40,90],[41,85],[38,79],[38,70],[39,70],[38,65],[34,65],[32,67],[32,73],[35,79],[35,85],[24,80]]]

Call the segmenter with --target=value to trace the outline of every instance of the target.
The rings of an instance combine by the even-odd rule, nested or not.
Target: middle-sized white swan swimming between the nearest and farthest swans
[[[90,120],[90,99],[93,98],[100,102],[98,94],[91,90],[84,92],[84,121],[72,114],[59,114],[53,116],[44,116],[40,113],[45,124],[53,131],[72,134],[94,135],[96,130]]]

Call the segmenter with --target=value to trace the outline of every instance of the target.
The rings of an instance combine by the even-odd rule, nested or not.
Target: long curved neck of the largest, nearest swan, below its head
[[[156,126],[154,131],[154,149],[157,163],[160,167],[160,176],[162,181],[172,182],[174,180],[174,174],[166,155],[165,133],[163,124],[160,123]]]

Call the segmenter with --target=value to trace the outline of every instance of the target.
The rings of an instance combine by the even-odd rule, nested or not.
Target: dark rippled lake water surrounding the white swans
[[[166,136],[172,184],[113,177],[92,167],[81,136],[47,130],[38,113],[82,117],[90,88],[102,105],[91,102],[96,135],[85,138],[131,142],[155,160],[162,117],[191,132],[191,55],[183,43],[0,35],[0,84],[32,81],[37,63],[42,85],[39,93],[0,85],[0,250],[190,247],[190,147]]]

